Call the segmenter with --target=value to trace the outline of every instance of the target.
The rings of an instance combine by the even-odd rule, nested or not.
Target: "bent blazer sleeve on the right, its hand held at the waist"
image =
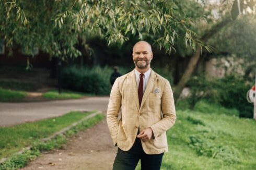
[[[156,124],[150,126],[154,137],[159,137],[162,133],[171,128],[176,122],[176,111],[174,106],[173,93],[171,85],[167,80],[161,96],[162,119]]]

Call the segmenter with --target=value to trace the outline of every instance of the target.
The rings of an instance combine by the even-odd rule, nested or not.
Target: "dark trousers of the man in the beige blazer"
[[[136,138],[133,147],[129,151],[118,148],[113,170],[134,170],[139,160],[141,160],[142,170],[158,170],[161,167],[163,155],[164,153],[146,154],[142,149],[141,140]]]

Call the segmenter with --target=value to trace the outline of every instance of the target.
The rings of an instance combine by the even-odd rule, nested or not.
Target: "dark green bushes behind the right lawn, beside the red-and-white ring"
[[[221,79],[206,80],[204,76],[195,76],[189,80],[188,85],[191,91],[188,99],[191,108],[204,99],[215,106],[220,104],[227,108],[235,108],[239,111],[240,117],[253,116],[253,105],[246,99],[250,85],[241,77],[231,75]]]

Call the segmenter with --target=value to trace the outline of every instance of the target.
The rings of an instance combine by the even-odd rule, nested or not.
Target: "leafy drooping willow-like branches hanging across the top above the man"
[[[4,0],[0,14],[0,37],[9,54],[13,45],[31,55],[38,47],[64,60],[81,54],[76,48],[79,40],[85,45],[88,37],[101,35],[108,44],[122,44],[129,33],[143,39],[144,32],[156,34],[155,42],[166,52],[174,49],[178,36],[184,36],[194,50],[197,45],[210,49],[191,29],[195,19],[175,1]]]

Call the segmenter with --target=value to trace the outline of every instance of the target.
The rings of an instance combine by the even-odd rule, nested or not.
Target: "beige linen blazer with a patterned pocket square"
[[[148,142],[142,141],[147,154],[159,154],[168,151],[166,130],[176,121],[173,94],[167,79],[151,70],[143,94],[141,107],[138,102],[138,90],[135,69],[117,78],[113,84],[107,111],[107,123],[114,145],[127,151],[131,149],[138,129],[152,128],[154,137]],[[118,119],[119,110],[121,119]]]

